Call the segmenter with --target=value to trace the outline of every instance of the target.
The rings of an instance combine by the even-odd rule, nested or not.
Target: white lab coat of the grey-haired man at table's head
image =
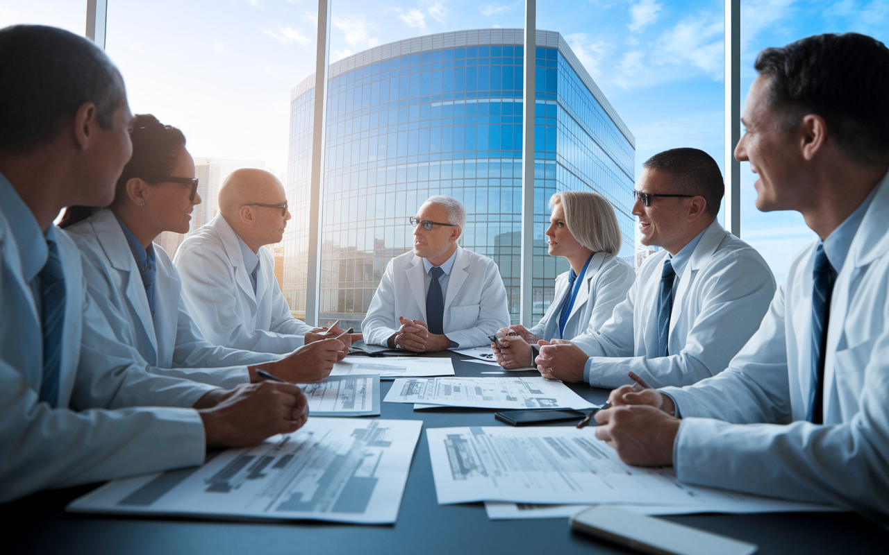
[[[386,345],[401,327],[399,316],[428,323],[425,274],[423,259],[412,252],[388,263],[361,324],[366,343]],[[497,265],[458,246],[445,293],[445,336],[464,348],[479,347],[490,345],[488,336],[507,326],[506,289]]]

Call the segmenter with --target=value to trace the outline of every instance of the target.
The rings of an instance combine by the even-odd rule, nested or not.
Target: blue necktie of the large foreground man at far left
[[[37,274],[40,280],[41,328],[44,339],[44,374],[40,384],[40,400],[52,408],[59,406],[59,373],[61,336],[65,327],[65,274],[61,269],[59,248],[48,241],[49,257]]]

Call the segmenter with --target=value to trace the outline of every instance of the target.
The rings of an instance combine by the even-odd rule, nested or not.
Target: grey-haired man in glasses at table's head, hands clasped
[[[411,224],[413,252],[386,266],[362,323],[365,341],[416,353],[489,345],[509,326],[506,289],[491,258],[457,244],[463,205],[431,196]]]

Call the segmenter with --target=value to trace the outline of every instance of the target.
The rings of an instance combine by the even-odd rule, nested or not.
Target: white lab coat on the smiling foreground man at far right
[[[805,421],[813,373],[815,244],[793,259],[762,326],[729,369],[696,385],[664,389],[683,416],[674,448],[677,476],[886,515],[889,176],[879,185],[834,285],[824,425]]]

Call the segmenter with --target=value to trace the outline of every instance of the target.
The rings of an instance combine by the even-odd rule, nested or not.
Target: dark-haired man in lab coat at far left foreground
[[[201,464],[308,417],[295,385],[225,391],[152,375],[116,342],[81,258],[52,225],[104,206],[132,154],[124,83],[56,28],[0,29],[0,502],[42,488]]]

